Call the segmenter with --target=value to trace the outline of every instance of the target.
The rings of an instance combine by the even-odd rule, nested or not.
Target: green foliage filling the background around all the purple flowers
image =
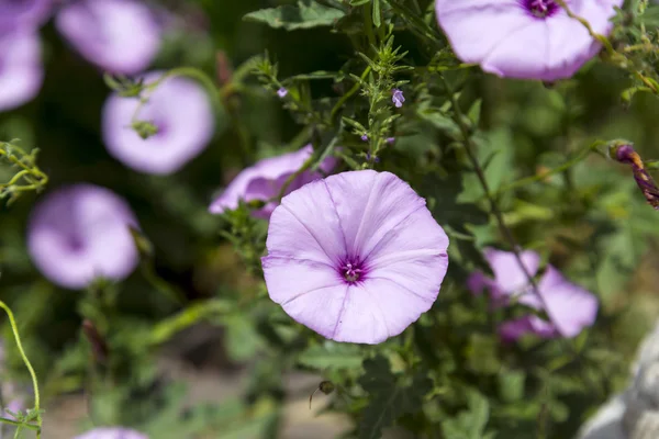
[[[81,427],[124,425],[158,439],[277,438],[297,409],[290,402],[317,390],[316,420],[342,415],[350,437],[376,439],[392,427],[438,439],[573,437],[626,382],[638,337],[659,312],[658,213],[606,154],[612,138],[627,136],[647,169],[659,169],[659,7],[626,2],[600,58],[545,85],[461,64],[431,0],[192,3],[210,34],[169,35],[155,63],[159,80],[83,69],[47,30],[42,95],[0,114],[0,138],[26,145],[0,143],[0,198],[26,195],[0,216],[0,297],[15,312],[45,404],[86,395],[93,423]],[[144,105],[171,76],[206,89],[215,138],[176,175],[130,171],[101,144],[102,102],[115,92]],[[405,95],[401,108],[393,89]],[[139,108],[131,127],[157,134]],[[244,167],[308,144],[313,154],[271,200],[208,213]],[[323,339],[270,301],[263,279],[268,222],[253,213],[328,157],[336,172],[394,172],[450,238],[436,303],[378,346]],[[35,270],[24,235],[27,194],[78,181],[131,203],[141,260],[123,282],[70,292]],[[490,273],[485,247],[536,250],[596,294],[595,324],[574,339],[502,342],[500,325],[532,311],[494,309],[469,291],[474,270]],[[29,383],[11,325],[2,334],[0,381]],[[163,357],[239,385],[192,401],[196,380],[164,372]],[[298,389],[299,372],[313,374],[313,385]],[[45,415],[49,407],[58,408]],[[15,414],[23,437],[41,423],[37,408]]]

